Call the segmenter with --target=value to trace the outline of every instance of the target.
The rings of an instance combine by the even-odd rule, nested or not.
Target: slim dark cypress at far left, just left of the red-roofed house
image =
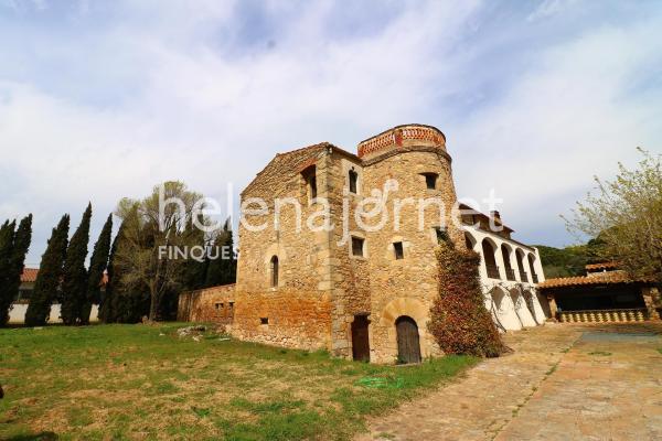
[[[11,303],[19,295],[21,287],[21,275],[23,273],[23,265],[25,255],[30,248],[32,240],[32,215],[21,219],[19,228],[14,234],[13,247],[11,251],[9,272],[3,286],[0,287],[0,326],[3,326],[9,321],[9,311]]]

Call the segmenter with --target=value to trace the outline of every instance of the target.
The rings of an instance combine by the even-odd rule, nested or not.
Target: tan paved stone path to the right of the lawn
[[[359,440],[662,440],[661,334],[651,323],[508,334],[513,354],[372,420]]]

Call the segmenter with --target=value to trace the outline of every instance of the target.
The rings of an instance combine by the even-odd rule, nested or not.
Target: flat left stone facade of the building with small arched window
[[[277,155],[242,193],[242,200],[265,200],[269,215],[246,216],[249,225],[268,222],[261,230],[239,227],[237,304],[233,334],[242,340],[300,348],[331,349],[328,233],[314,233],[306,219],[319,209],[301,172],[316,166],[318,195],[327,186],[328,144]],[[276,198],[284,204],[275,224]],[[301,219],[301,228],[297,227]],[[278,286],[271,287],[271,257],[277,256]]]

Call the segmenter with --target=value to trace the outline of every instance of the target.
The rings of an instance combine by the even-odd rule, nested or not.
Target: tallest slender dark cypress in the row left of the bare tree
[[[87,291],[87,244],[89,243],[89,220],[92,218],[92,204],[87,204],[81,225],[72,236],[62,275],[62,321],[66,325],[77,324],[81,309],[85,303]]]

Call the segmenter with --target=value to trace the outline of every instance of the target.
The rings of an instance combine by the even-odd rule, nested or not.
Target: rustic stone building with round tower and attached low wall
[[[469,228],[441,131],[398,126],[357,154],[330,143],[277,154],[242,192],[242,215],[236,284],[183,293],[180,320],[217,311],[242,340],[376,363],[440,354],[426,326],[435,248],[441,236],[465,246]],[[502,241],[542,276],[533,248]]]

